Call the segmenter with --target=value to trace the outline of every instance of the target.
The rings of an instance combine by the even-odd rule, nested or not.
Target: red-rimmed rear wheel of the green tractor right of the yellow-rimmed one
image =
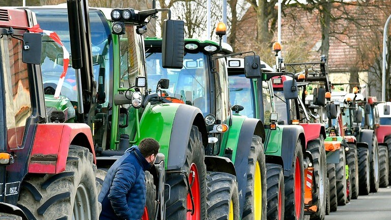
[[[299,220],[304,216],[304,166],[300,140],[296,143],[291,174],[284,178],[285,219]]]

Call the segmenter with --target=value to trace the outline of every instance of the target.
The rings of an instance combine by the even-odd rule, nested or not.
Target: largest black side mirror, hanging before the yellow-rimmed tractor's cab
[[[185,52],[185,22],[183,20],[164,20],[162,33],[163,68],[182,69]]]

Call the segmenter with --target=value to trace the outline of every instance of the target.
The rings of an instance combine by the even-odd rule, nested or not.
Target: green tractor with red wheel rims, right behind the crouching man
[[[154,138],[161,148],[155,168],[146,174],[148,200],[143,219],[205,219],[208,134],[202,112],[167,102],[147,87],[145,20],[168,9],[83,11],[88,6],[81,2],[69,1],[68,11],[64,6],[32,8],[41,28],[57,33],[72,58],[68,66],[64,49],[52,39],[43,40],[43,86],[46,101],[52,103],[49,118],[91,127],[98,185],[130,145]],[[178,68],[178,63],[182,67],[183,24],[164,22],[163,34],[170,37],[163,37],[163,45],[172,49],[163,51],[165,67]],[[58,98],[54,97],[57,91]],[[220,164],[218,158],[209,161]],[[235,196],[232,201],[236,202]]]

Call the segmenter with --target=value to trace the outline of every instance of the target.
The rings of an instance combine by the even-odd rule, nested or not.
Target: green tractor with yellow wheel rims
[[[239,116],[241,106],[231,106],[226,60],[231,46],[185,39],[182,68],[170,69],[163,65],[163,42],[145,40],[148,86],[162,99],[201,109],[208,132],[208,218],[266,219],[265,130],[260,120]],[[253,71],[260,74],[259,68]]]

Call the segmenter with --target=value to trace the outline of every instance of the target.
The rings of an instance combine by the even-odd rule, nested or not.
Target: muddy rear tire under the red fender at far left
[[[71,145],[64,172],[23,180],[18,206],[29,219],[98,219],[95,171],[92,153]]]

